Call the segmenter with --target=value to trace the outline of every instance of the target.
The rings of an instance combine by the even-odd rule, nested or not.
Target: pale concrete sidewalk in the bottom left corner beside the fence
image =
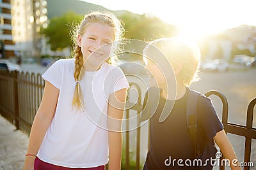
[[[24,164],[28,135],[0,115],[0,170],[20,170]]]

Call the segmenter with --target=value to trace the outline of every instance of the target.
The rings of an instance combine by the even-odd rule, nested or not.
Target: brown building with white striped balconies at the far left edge
[[[12,5],[10,0],[0,0],[0,58],[14,56],[12,36]]]

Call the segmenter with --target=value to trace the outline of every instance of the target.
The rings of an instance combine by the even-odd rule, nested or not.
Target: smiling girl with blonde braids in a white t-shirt
[[[122,24],[111,13],[92,12],[77,30],[75,59],[45,71],[44,96],[29,136],[24,170],[120,169],[126,89],[114,67]],[[109,131],[108,131],[109,130]]]

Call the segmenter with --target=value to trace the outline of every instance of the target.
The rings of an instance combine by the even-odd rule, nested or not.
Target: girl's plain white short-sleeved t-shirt
[[[107,63],[86,71],[80,81],[84,110],[72,107],[76,81],[75,59],[61,59],[42,75],[60,89],[56,112],[47,129],[38,158],[64,167],[97,167],[108,163],[108,97],[129,88],[120,67]]]

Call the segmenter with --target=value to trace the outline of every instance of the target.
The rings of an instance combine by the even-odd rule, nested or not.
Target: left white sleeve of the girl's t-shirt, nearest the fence
[[[54,87],[60,89],[63,67],[61,60],[57,60],[52,64],[47,71],[42,75],[45,81],[49,81]]]

